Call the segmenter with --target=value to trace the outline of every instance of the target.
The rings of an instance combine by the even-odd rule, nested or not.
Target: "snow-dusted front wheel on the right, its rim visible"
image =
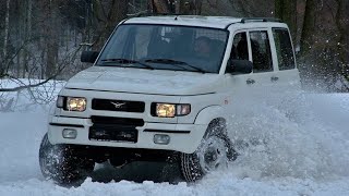
[[[227,136],[225,126],[221,122],[216,121],[208,125],[207,134],[202,139],[200,147],[193,154],[181,154],[180,156],[180,169],[182,176],[186,182],[195,182],[201,180],[206,173],[216,170],[220,167],[227,167],[228,161],[237,159],[238,154],[233,149],[233,145]],[[221,150],[217,150],[216,158],[220,156],[218,162],[212,162],[213,166],[206,166],[206,150],[212,148],[213,143],[219,143],[218,145]],[[204,148],[204,149],[203,149]],[[213,148],[216,150],[216,148]],[[217,148],[218,149],[218,148]],[[204,150],[204,151],[203,151]],[[203,152],[205,155],[203,155]],[[209,158],[215,157],[214,155],[208,156]],[[217,160],[217,159],[215,159]],[[212,161],[215,161],[212,160]],[[209,160],[208,160],[209,161]],[[205,162],[205,163],[204,163]]]

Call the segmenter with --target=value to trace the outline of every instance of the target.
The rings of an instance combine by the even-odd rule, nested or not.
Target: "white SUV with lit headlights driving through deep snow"
[[[84,179],[96,162],[142,160],[178,161],[185,181],[200,180],[238,156],[231,102],[300,86],[289,29],[273,19],[129,19],[82,61],[94,65],[60,91],[39,151],[58,183]]]

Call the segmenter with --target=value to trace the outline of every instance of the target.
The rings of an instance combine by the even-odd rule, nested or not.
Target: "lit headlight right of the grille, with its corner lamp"
[[[156,117],[174,118],[178,115],[188,115],[191,111],[190,105],[155,103]]]

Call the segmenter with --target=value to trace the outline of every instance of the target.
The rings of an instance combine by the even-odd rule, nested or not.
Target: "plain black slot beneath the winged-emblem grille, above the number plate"
[[[91,117],[94,124],[117,125],[117,126],[143,126],[143,119],[113,118],[113,117]]]

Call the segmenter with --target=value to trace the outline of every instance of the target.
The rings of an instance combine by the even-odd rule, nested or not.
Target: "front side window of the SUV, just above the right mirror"
[[[248,39],[246,33],[238,33],[233,37],[233,46],[231,48],[230,58],[231,59],[241,59],[241,60],[249,60],[249,47],[248,47]]]

